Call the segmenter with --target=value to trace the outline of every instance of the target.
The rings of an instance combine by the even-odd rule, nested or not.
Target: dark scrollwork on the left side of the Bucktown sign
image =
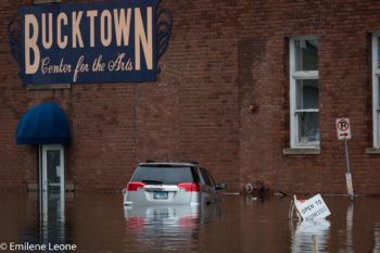
[[[21,18],[14,17],[8,24],[8,45],[12,56],[21,67]]]

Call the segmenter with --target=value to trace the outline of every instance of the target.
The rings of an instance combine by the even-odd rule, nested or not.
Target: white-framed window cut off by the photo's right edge
[[[380,77],[380,68],[378,67],[379,55],[379,38],[380,31],[372,34],[372,131],[373,131],[373,148],[380,148],[379,141],[379,116],[378,112],[380,112],[379,106],[379,77]]]

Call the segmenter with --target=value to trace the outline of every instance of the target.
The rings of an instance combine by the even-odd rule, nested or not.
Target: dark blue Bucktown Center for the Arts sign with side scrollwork
[[[9,38],[24,85],[154,81],[173,23],[159,1],[21,8]]]

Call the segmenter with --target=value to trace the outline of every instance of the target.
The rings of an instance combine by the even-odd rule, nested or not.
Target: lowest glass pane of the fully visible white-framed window
[[[299,142],[319,141],[319,113],[297,113]]]

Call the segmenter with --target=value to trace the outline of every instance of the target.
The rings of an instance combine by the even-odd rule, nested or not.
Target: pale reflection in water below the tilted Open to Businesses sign
[[[290,223],[293,223],[292,220]],[[290,225],[292,227],[292,225]],[[292,253],[328,252],[330,222],[326,219],[304,220],[296,224],[292,233]]]

